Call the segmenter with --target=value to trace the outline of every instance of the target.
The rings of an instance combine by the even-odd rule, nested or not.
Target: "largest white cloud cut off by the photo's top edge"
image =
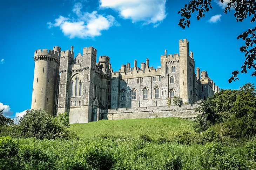
[[[101,8],[112,8],[133,23],[153,23],[157,27],[166,17],[166,0],[100,0]]]

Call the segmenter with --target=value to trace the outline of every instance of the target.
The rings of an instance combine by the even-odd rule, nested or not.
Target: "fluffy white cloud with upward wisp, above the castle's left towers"
[[[73,12],[76,14],[76,19],[60,16],[55,19],[54,23],[48,22],[49,28],[59,27],[65,36],[70,39],[78,38],[93,38],[100,36],[101,31],[108,30],[113,25],[117,25],[115,18],[112,15],[103,16],[93,11],[92,13],[82,12],[82,3],[75,3]]]

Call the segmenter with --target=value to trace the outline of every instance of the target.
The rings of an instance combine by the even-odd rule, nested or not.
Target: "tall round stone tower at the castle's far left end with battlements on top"
[[[36,50],[31,109],[43,109],[49,114],[55,111],[56,81],[59,74],[60,47],[53,50]]]

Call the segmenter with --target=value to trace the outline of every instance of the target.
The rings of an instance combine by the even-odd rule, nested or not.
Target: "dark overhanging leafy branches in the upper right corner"
[[[218,0],[223,3],[223,0]],[[205,13],[208,12],[211,7],[211,0],[190,0],[188,4],[182,8],[178,14],[181,14],[181,19],[178,25],[183,29],[189,27],[190,25],[190,17],[194,12],[198,12],[196,16],[197,20],[200,20],[201,17],[205,16]],[[234,16],[236,18],[236,22],[242,22],[247,17],[251,17],[251,23],[256,20],[256,1],[255,0],[230,0],[227,6],[224,9],[224,13],[234,11]],[[238,79],[237,75],[239,73],[247,73],[248,69],[253,69],[254,72],[251,76],[256,76],[256,34],[255,28],[250,28],[247,31],[240,34],[237,39],[242,38],[245,40],[245,45],[240,47],[240,51],[244,52],[245,61],[241,67],[241,71],[232,72],[232,76],[228,80],[231,83],[233,80]]]

